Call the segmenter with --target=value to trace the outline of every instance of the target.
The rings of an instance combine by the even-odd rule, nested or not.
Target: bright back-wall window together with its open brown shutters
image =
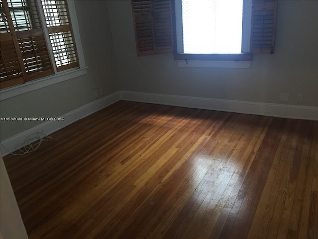
[[[173,49],[175,60],[251,61],[274,53],[276,0],[134,0],[132,10],[138,56]]]

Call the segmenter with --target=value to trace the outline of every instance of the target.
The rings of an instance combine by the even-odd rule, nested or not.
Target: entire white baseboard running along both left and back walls
[[[64,117],[64,121],[46,121],[13,137],[5,139],[1,143],[8,151],[13,152],[23,147],[25,138],[33,133],[41,132],[43,130],[43,133],[49,135],[119,100],[292,119],[318,120],[318,107],[164,95],[133,91],[117,91],[97,101],[91,102],[62,115],[61,117]],[[9,154],[7,150],[5,150],[1,145],[2,156]]]

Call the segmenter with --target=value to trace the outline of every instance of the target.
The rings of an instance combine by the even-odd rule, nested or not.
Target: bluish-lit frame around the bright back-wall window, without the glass
[[[172,19],[173,19],[173,30],[174,30],[174,60],[177,61],[245,61],[251,62],[253,55],[250,48],[250,35],[251,35],[251,12],[252,4],[251,1],[243,0],[243,20],[242,20],[242,37],[244,42],[242,43],[242,51],[247,50],[248,52],[242,53],[181,53],[183,51],[183,34],[182,34],[182,6],[181,0],[174,1],[172,4]],[[250,7],[250,10],[246,10]],[[246,14],[247,12],[247,14]],[[179,20],[177,20],[177,18]],[[181,31],[181,32],[180,32]],[[182,47],[182,49],[181,49]],[[219,67],[220,64],[217,64]],[[214,66],[211,66],[214,67]]]

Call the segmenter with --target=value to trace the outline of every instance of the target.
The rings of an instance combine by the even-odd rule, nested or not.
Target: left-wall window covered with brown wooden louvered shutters
[[[79,66],[66,0],[0,4],[1,89]]]

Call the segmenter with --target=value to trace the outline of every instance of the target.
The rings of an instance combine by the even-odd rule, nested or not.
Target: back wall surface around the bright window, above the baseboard
[[[254,55],[250,69],[181,68],[172,54],[137,57],[130,1],[108,5],[121,90],[318,106],[318,1],[279,1],[275,54]],[[279,101],[280,92],[290,100]]]

